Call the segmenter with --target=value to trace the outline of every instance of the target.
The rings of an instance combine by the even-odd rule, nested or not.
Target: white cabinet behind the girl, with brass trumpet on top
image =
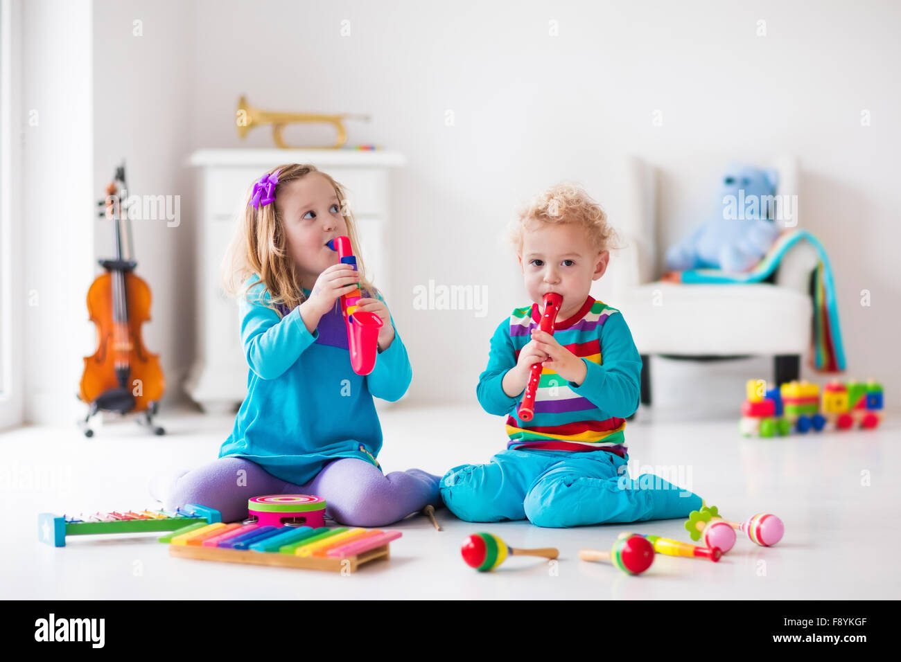
[[[390,301],[388,177],[390,168],[403,166],[405,158],[388,151],[198,150],[188,162],[200,170],[201,191],[196,360],[185,388],[205,412],[229,412],[247,393],[247,362],[241,349],[238,304],[223,292],[220,276],[248,188],[280,163],[312,163],[340,182],[357,221],[367,274]]]

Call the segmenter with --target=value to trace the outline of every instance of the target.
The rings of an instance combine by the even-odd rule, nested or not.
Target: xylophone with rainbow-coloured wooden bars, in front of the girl
[[[353,572],[363,563],[388,558],[400,531],[347,527],[276,527],[259,523],[195,523],[162,536],[169,556]]]

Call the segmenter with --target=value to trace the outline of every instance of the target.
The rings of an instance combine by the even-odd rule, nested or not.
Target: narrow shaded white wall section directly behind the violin
[[[177,225],[165,217],[132,221],[135,273],[153,295],[141,333],[144,346],[159,354],[164,407],[184,398],[194,357],[195,186],[185,165],[193,144],[194,9],[172,0],[94,3],[94,195],[103,194],[125,159],[130,194],[180,200]],[[113,257],[112,222],[94,225],[96,257]]]

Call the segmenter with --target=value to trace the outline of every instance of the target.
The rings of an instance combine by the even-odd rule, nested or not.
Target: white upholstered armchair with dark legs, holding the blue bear
[[[778,169],[778,194],[797,194],[797,165],[790,157],[769,164]],[[626,159],[618,198],[605,204],[625,248],[612,251],[604,277],[592,295],[622,311],[642,355],[642,404],[651,404],[651,356],[724,360],[774,358],[777,384],[797,379],[810,347],[810,300],[815,250],[802,242],[783,258],[769,282],[735,285],[677,285],[660,282],[658,211],[654,168]],[[797,220],[797,210],[795,220]],[[662,218],[660,222],[667,222]],[[683,228],[682,231],[689,231]]]

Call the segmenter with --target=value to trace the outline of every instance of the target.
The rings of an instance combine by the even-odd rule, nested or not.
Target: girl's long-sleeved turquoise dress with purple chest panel
[[[337,458],[378,467],[382,429],[372,398],[398,400],[413,376],[396,326],[372,372],[359,376],[350,368],[340,302],[310,333],[299,308],[282,316],[263,304],[270,297],[262,283],[251,286],[247,298],[241,297],[247,396],[219,457],[249,459],[296,485]]]

